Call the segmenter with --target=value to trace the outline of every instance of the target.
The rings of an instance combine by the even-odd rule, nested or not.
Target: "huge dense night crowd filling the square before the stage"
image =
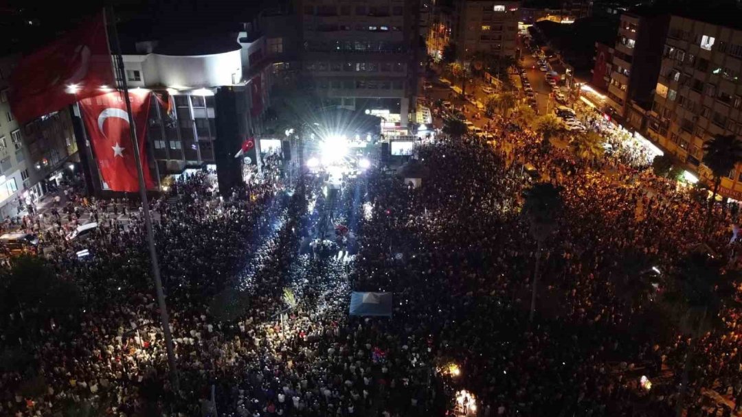
[[[0,363],[0,415],[669,416],[687,373],[688,416],[731,416],[710,393],[742,399],[740,310],[723,304],[692,337],[658,322],[655,300],[701,241],[733,279],[732,214],[707,221],[686,190],[621,159],[596,170],[510,121],[491,131],[418,147],[421,187],[373,169],[328,193],[321,176],[286,181],[279,159],[225,194],[206,172],[178,180],[151,215],[177,381],[143,211],[73,195],[63,214],[28,216],[85,302],[33,328],[23,306],[0,319],[0,348],[33,352],[43,380],[27,395],[29,373]],[[533,323],[525,162],[565,201]],[[99,227],[66,238],[79,218]],[[634,264],[663,271],[658,287],[634,290]],[[393,293],[393,316],[349,316],[351,290]]]

